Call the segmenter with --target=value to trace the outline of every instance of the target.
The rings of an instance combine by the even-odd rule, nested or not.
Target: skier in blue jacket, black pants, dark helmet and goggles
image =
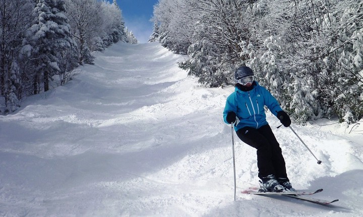
[[[281,148],[266,121],[264,106],[288,127],[290,117],[277,100],[254,79],[253,70],[241,66],[234,72],[234,92],[228,96],[223,112],[224,122],[234,123],[237,136],[257,149],[258,177],[262,191],[295,191],[286,174]]]

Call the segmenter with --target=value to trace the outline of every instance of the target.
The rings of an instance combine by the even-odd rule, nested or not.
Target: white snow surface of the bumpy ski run
[[[363,216],[363,127],[277,118],[296,189],[319,205],[242,194],[258,186],[256,151],[222,119],[233,87],[205,88],[177,67],[187,57],[159,43],[117,43],[94,53],[65,86],[0,116],[0,216]],[[360,122],[361,123],[361,122]]]

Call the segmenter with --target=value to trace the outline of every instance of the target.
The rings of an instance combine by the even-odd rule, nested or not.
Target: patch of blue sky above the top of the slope
[[[109,0],[109,2],[113,2]],[[153,30],[150,19],[153,15],[153,6],[158,0],[117,0],[122,10],[125,26],[132,31],[139,43],[146,43]]]

